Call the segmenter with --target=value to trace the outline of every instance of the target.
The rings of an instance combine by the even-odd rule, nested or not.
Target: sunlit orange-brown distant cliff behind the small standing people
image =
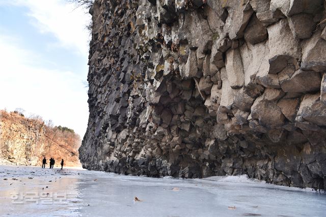
[[[80,166],[80,138],[72,130],[50,127],[43,120],[25,118],[0,110],[0,163],[41,165],[43,157],[54,158],[55,166]],[[49,164],[49,161],[47,161]]]

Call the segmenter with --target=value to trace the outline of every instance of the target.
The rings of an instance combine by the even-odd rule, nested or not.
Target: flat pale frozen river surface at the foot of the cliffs
[[[246,176],[148,178],[0,166],[0,177],[2,216],[326,216],[326,194]]]

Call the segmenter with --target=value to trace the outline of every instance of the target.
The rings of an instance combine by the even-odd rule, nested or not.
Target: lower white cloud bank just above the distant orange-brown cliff
[[[82,137],[87,128],[87,89],[69,71],[36,66],[42,59],[19,48],[12,38],[0,37],[0,109],[21,107],[74,129]]]

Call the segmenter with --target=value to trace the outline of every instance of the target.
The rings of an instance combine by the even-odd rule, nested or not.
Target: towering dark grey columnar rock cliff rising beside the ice
[[[325,5],[96,0],[83,166],[326,189]]]

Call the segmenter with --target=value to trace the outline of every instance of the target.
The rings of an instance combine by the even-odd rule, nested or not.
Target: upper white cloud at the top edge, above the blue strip
[[[91,16],[83,7],[76,8],[58,0],[14,0],[11,4],[28,7],[33,24],[41,33],[53,34],[58,39],[58,45],[88,56],[90,34],[86,25]]]

